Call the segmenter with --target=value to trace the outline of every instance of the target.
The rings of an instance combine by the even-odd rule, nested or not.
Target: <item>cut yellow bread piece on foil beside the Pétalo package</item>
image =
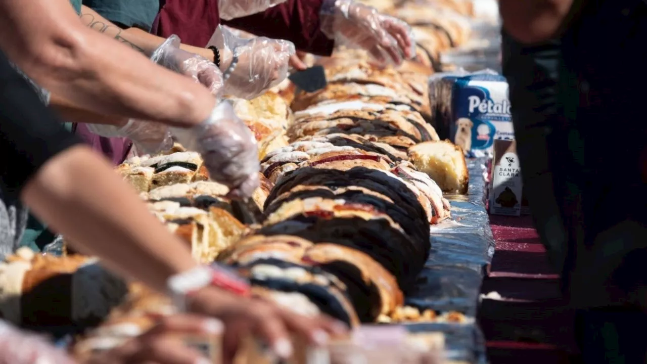
[[[450,141],[422,142],[409,148],[411,163],[428,174],[443,192],[466,194],[470,181],[465,155]]]

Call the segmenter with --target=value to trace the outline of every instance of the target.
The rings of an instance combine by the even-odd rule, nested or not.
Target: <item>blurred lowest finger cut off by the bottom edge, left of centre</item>
[[[164,364],[204,363],[204,357],[192,348],[186,347],[179,339],[170,337],[150,339],[145,350],[140,350],[129,362],[151,361]],[[202,361],[200,361],[202,360]],[[208,361],[206,361],[208,363]]]

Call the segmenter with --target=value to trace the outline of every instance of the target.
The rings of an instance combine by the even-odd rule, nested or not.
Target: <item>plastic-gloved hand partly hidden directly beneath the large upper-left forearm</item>
[[[129,119],[121,128],[105,124],[87,124],[87,128],[102,137],[128,138],[143,154],[156,154],[173,146],[168,126],[159,122]]]

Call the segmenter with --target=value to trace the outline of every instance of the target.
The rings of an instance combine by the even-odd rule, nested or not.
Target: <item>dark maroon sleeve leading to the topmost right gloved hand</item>
[[[329,56],[334,41],[320,30],[322,3],[323,0],[287,0],[265,12],[222,23],[257,36],[292,41],[299,51]]]

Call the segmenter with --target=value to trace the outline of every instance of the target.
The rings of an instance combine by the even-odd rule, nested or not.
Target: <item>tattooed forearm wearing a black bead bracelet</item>
[[[143,52],[147,56],[151,56],[151,54],[155,52],[155,49],[162,45],[165,40],[164,38],[155,36],[139,28],[122,29],[85,5],[81,8],[80,17],[81,22],[86,27],[103,33],[111,38],[115,38],[115,40],[128,45],[135,49],[135,51]],[[192,52],[193,54],[199,54],[208,60],[214,60],[214,53],[208,49],[184,44],[182,44],[180,48],[184,51]]]

